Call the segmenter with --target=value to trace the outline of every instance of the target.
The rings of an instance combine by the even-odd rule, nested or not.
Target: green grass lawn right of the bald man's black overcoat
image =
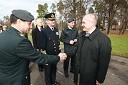
[[[110,35],[112,54],[128,58],[128,35]]]

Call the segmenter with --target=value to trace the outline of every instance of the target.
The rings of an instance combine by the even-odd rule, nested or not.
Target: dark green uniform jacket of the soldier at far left
[[[46,64],[58,60],[58,56],[44,55],[34,49],[13,27],[0,33],[0,85],[30,85],[30,61]]]

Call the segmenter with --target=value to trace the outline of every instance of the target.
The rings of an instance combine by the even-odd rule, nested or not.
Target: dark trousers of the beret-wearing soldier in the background
[[[71,59],[70,65],[71,65],[71,69],[72,71],[74,71],[75,69],[75,57],[76,55],[72,55],[72,56],[67,56],[66,60],[64,61],[64,72],[68,73],[68,67],[69,67],[69,61]]]

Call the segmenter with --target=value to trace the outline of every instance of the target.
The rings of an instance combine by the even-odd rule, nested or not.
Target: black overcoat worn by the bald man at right
[[[96,80],[103,83],[111,56],[110,39],[96,29],[89,37],[82,32],[77,45],[76,66],[80,70],[80,85],[96,85]]]

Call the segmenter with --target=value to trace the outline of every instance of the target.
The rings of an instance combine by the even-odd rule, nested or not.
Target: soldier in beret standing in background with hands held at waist
[[[77,42],[78,30],[74,27],[74,19],[69,18],[67,20],[67,27],[65,27],[60,36],[60,40],[64,43],[64,52],[67,54],[67,59],[64,61],[64,74],[65,77],[69,77],[68,68],[70,62],[70,72],[74,73],[75,68],[75,58],[76,58],[76,49],[75,44]]]

